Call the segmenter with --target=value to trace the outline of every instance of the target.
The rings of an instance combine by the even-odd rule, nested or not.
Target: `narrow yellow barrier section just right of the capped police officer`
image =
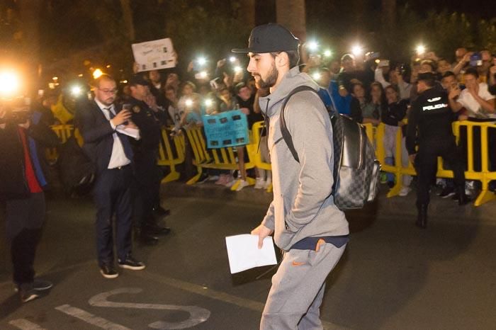
[[[157,164],[159,166],[169,166],[170,173],[162,179],[162,183],[167,183],[179,179],[179,172],[176,171],[176,165],[184,163],[184,136],[175,135],[170,137],[171,130],[168,128],[162,129],[162,139],[159,144],[159,156]],[[171,148],[171,141],[174,142],[174,149],[176,150],[176,157]]]

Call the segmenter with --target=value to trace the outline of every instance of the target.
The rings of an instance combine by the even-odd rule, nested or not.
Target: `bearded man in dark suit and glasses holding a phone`
[[[96,203],[96,246],[98,266],[105,278],[116,278],[113,226],[118,266],[133,271],[145,268],[131,254],[133,151],[128,136],[118,130],[137,129],[128,110],[115,108],[115,80],[106,74],[94,81],[94,100],[81,104],[76,125],[84,139],[83,149],[96,164],[94,200]],[[139,139],[139,136],[136,137]]]

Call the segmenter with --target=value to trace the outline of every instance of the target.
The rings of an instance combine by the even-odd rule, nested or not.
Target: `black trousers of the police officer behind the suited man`
[[[135,226],[141,228],[154,224],[153,208],[160,200],[160,169],[157,166],[157,151],[146,150],[135,153]]]

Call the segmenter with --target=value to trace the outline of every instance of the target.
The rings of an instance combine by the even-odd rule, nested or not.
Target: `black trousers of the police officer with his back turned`
[[[465,187],[463,161],[456,147],[454,137],[444,140],[423,141],[419,144],[419,153],[415,158],[415,169],[418,173],[417,207],[429,204],[429,188],[437,171],[437,157],[442,157],[453,171],[456,187]]]

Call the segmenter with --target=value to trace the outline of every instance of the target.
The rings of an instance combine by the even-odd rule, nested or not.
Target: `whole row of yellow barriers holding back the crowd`
[[[245,163],[245,169],[252,169],[258,167],[259,169],[271,170],[271,164],[266,163],[261,160],[261,154],[259,152],[259,141],[261,128],[264,126],[264,122],[255,123],[252,127],[252,135],[250,137],[250,143],[247,144],[246,149],[249,156],[249,161]],[[417,173],[413,168],[412,164],[408,164],[407,167],[402,166],[401,156],[402,156],[402,132],[398,130],[396,134],[396,145],[395,145],[395,157],[393,165],[385,164],[385,150],[384,150],[384,128],[383,123],[379,124],[377,127],[370,123],[363,125],[366,128],[366,133],[368,138],[373,142],[376,147],[376,157],[378,161],[382,164],[382,170],[388,173],[393,173],[396,176],[396,183],[393,188],[388,192],[388,197],[393,197],[398,195],[400,189],[402,188],[402,176],[410,175],[415,176]],[[460,141],[460,127],[466,127],[467,131],[467,164],[468,169],[465,171],[465,178],[467,180],[477,180],[482,183],[482,190],[475,199],[473,205],[479,206],[487,203],[491,200],[496,200],[496,194],[488,189],[488,184],[492,180],[496,180],[496,172],[489,171],[489,153],[496,152],[496,150],[489,150],[487,143],[487,130],[489,128],[496,130],[495,123],[475,123],[470,121],[457,121],[453,123],[453,132],[456,136],[457,142]],[[473,127],[480,127],[480,145],[481,145],[481,159],[480,164],[482,165],[481,171],[474,171],[474,152],[473,152]],[[67,139],[74,134],[73,125],[54,125],[52,130],[60,138],[61,142],[64,143]],[[162,130],[162,141],[159,147],[159,157],[158,164],[160,166],[169,166],[171,172],[167,175],[162,182],[169,182],[179,179],[179,172],[176,171],[176,166],[182,164],[185,161],[185,140],[184,136],[176,135],[174,137],[169,137],[170,130]],[[79,144],[82,144],[81,135],[79,132],[75,132]],[[191,145],[193,151],[193,165],[196,166],[198,174],[193,176],[193,178],[187,181],[187,184],[194,184],[200,178],[203,169],[225,169],[225,170],[236,170],[238,169],[236,154],[232,147],[230,148],[220,148],[220,149],[207,149],[205,137],[203,136],[203,130],[201,127],[191,127],[186,130],[186,136],[188,142]],[[172,142],[172,144],[171,144]],[[174,147],[172,147],[174,146]],[[57,159],[56,149],[47,149],[47,158],[49,160]],[[436,173],[438,178],[453,178],[453,171],[445,169],[443,162],[439,157],[438,161],[438,171]],[[249,185],[254,185],[254,178],[247,177]],[[236,190],[237,183],[232,186],[232,190]],[[267,189],[269,192],[272,190],[270,186]]]

